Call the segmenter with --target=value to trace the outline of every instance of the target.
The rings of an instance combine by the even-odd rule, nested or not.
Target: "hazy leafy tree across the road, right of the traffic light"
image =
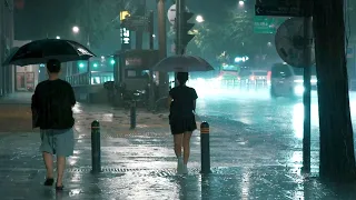
[[[254,42],[254,14],[233,9],[227,19],[219,23],[202,22],[196,26],[195,39],[189,44],[190,53],[205,58],[214,58],[222,54],[245,54],[250,51]]]

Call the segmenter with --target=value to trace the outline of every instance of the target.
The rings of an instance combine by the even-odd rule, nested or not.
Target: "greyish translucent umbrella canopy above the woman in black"
[[[168,57],[154,67],[154,71],[165,72],[192,72],[211,71],[212,66],[200,57],[192,56],[172,56]]]

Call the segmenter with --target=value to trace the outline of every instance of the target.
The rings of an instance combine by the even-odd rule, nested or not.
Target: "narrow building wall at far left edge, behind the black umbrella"
[[[0,2],[0,97],[14,91],[14,68],[2,66],[13,47],[13,0]]]

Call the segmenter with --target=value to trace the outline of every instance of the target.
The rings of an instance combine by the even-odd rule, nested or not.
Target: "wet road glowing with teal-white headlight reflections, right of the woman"
[[[301,98],[271,99],[268,90],[201,90],[197,89],[199,100],[197,113],[201,120],[218,126],[216,134],[241,136],[254,149],[254,162],[259,164],[284,164],[300,168],[303,162],[303,120]],[[356,94],[350,93],[353,121],[356,119]],[[236,129],[237,127],[243,127]],[[312,164],[317,172],[319,128],[317,94],[312,93]],[[244,132],[244,133],[240,133]],[[215,133],[212,132],[211,136]],[[234,146],[229,140],[228,146]],[[240,144],[239,142],[237,142]],[[247,156],[245,156],[247,157]],[[247,157],[245,162],[250,162]],[[254,160],[254,159],[253,159]],[[266,162],[260,162],[260,161]]]

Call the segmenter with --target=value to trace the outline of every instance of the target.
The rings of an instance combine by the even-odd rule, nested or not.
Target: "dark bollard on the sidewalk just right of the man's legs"
[[[98,120],[91,123],[91,172],[101,172],[100,123]]]

